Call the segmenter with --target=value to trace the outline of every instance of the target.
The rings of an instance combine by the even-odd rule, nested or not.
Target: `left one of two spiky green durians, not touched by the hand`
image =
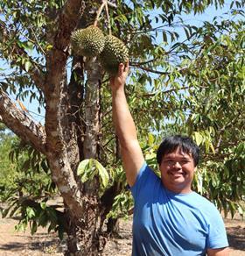
[[[76,55],[95,57],[102,53],[105,37],[95,25],[89,25],[72,33],[71,44]]]

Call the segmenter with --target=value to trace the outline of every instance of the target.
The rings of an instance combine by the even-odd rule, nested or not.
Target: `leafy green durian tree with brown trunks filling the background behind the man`
[[[228,18],[201,27],[185,21],[224,4]],[[20,139],[18,150],[29,153],[25,168],[45,169],[64,201],[62,210],[45,204],[49,185],[39,196],[18,194],[12,204],[33,232],[50,224],[50,231],[66,233],[67,255],[99,255],[114,200],[129,193],[111,121],[111,56],[83,56],[72,44],[90,25],[129,48],[127,95],[149,163],[156,166],[152,158],[166,133],[193,136],[204,152],[196,189],[226,212],[242,209],[243,8],[242,1],[223,0],[1,1],[0,119]],[[43,123],[25,109],[25,98],[45,110]]]

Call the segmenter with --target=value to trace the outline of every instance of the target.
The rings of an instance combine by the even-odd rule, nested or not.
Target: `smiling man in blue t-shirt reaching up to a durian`
[[[129,63],[110,80],[113,120],[123,168],[135,201],[133,256],[227,256],[228,240],[219,211],[192,191],[199,148],[173,136],[159,146],[161,179],[144,161],[137,130],[124,94]]]

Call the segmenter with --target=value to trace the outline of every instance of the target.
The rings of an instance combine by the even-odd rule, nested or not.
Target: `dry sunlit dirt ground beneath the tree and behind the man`
[[[65,245],[59,242],[55,234],[47,234],[45,229],[31,236],[30,231],[17,232],[15,224],[18,221],[0,217],[0,256],[21,255],[63,255]],[[230,256],[245,256],[245,220],[240,217],[226,218]],[[120,221],[120,237],[111,239],[105,248],[103,256],[130,256],[131,252],[131,219]]]

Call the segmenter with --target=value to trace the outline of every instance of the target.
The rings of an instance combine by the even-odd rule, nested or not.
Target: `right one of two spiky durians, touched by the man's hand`
[[[115,36],[105,37],[105,45],[100,54],[102,68],[109,75],[116,75],[120,63],[126,63],[129,59],[129,49],[123,44],[123,41]]]

